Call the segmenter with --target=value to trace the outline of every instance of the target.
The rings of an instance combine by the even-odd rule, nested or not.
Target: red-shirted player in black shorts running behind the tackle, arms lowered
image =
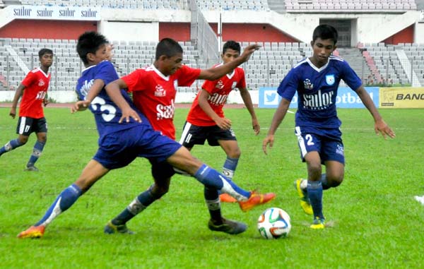
[[[223,46],[221,58],[223,63],[214,67],[227,64],[240,56],[240,44],[229,40]],[[235,133],[231,128],[231,120],[225,118],[223,107],[227,102],[228,95],[232,90],[238,88],[242,100],[252,117],[252,127],[257,135],[260,131],[257,116],[254,113],[252,99],[246,88],[245,71],[237,67],[230,73],[225,74],[218,80],[206,80],[201,90],[196,95],[192,108],[187,115],[187,121],[184,124],[182,136],[179,141],[184,147],[191,150],[194,145],[204,145],[205,141],[211,146],[220,145],[225,151],[227,159],[223,165],[223,174],[232,179],[241,152],[235,138]],[[205,190],[207,191],[207,190]],[[222,193],[220,201],[235,203],[237,200],[231,196]]]

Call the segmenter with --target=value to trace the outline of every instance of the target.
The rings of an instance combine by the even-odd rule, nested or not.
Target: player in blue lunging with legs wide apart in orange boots
[[[146,116],[134,107],[124,90],[108,87],[119,77],[110,61],[105,61],[108,55],[107,44],[103,35],[86,32],[78,38],[76,46],[86,68],[76,85],[80,101],[76,102],[73,112],[85,110],[89,104],[100,136],[98,151],[83,169],[81,176],[57,196],[42,219],[20,232],[18,237],[42,237],[45,227],[70,208],[96,181],[111,169],[129,165],[136,157],[146,157],[152,163],[166,160],[209,188],[229,193],[246,205],[259,205],[260,193],[253,194],[241,189],[216,170],[196,160],[179,143],[154,131]],[[139,210],[139,204],[135,203],[131,209]]]

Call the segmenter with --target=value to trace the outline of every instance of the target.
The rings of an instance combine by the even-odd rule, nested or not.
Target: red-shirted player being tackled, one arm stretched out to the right
[[[216,80],[249,59],[250,54],[259,49],[257,45],[246,47],[240,57],[228,64],[216,68],[196,69],[182,65],[182,47],[170,38],[165,38],[156,47],[155,62],[146,68],[137,69],[119,80],[115,80],[114,87],[128,89],[133,94],[134,104],[146,115],[156,131],[175,139],[175,126],[173,123],[175,112],[175,95],[177,86],[192,85],[196,79]],[[110,85],[112,85],[111,83]],[[152,163],[152,174],[155,183],[150,189],[144,191],[132,201],[128,207],[117,217],[107,223],[105,232],[129,232],[126,222],[140,213],[155,200],[167,193],[170,179],[175,170],[167,163]],[[220,214],[218,193],[216,197],[206,197],[206,204],[211,213],[208,222],[209,229],[228,234],[240,234],[245,232],[247,226],[242,222],[227,220]],[[275,197],[274,193],[259,194],[257,204]],[[206,193],[205,193],[206,195]],[[240,208],[247,211],[251,207],[246,203],[240,203]]]

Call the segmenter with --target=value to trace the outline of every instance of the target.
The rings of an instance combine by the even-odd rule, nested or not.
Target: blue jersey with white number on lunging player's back
[[[78,79],[76,85],[76,93],[78,95],[78,100],[85,100],[88,95],[88,91],[94,83],[94,80],[101,79],[105,85],[111,83],[114,80],[119,78],[117,71],[115,71],[114,66],[109,61],[102,61],[96,66],[89,66],[84,69],[81,73],[81,77]],[[121,90],[122,95],[126,102],[129,103],[132,109],[138,112],[138,109],[134,107],[133,102],[131,101],[129,95],[125,90]],[[119,124],[119,119],[121,119],[122,112],[117,105],[110,100],[109,95],[105,88],[102,88],[98,96],[96,96],[91,102],[89,107],[91,112],[93,112],[95,117],[95,123],[97,125],[98,133],[100,138],[107,135],[108,133],[113,133],[116,131],[121,131],[127,128],[132,128],[136,125],[139,125],[139,122],[131,119],[129,123],[122,122]],[[141,124],[146,124],[151,126],[146,116],[139,112],[141,117]]]

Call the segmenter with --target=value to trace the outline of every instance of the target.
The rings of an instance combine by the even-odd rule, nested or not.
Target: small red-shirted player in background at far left
[[[3,153],[11,151],[15,148],[25,145],[28,142],[28,137],[31,133],[37,134],[37,141],[33,148],[33,154],[26,166],[26,171],[38,171],[34,166],[40,157],[42,150],[47,141],[47,121],[45,119],[42,104],[48,104],[47,89],[50,83],[49,67],[53,63],[53,52],[51,49],[40,49],[38,52],[41,66],[30,71],[27,76],[22,80],[18,89],[16,90],[15,97],[11,112],[9,115],[13,119],[16,116],[16,106],[18,100],[22,96],[19,107],[19,120],[16,133],[18,138],[8,141],[6,145],[0,148],[0,156]]]

